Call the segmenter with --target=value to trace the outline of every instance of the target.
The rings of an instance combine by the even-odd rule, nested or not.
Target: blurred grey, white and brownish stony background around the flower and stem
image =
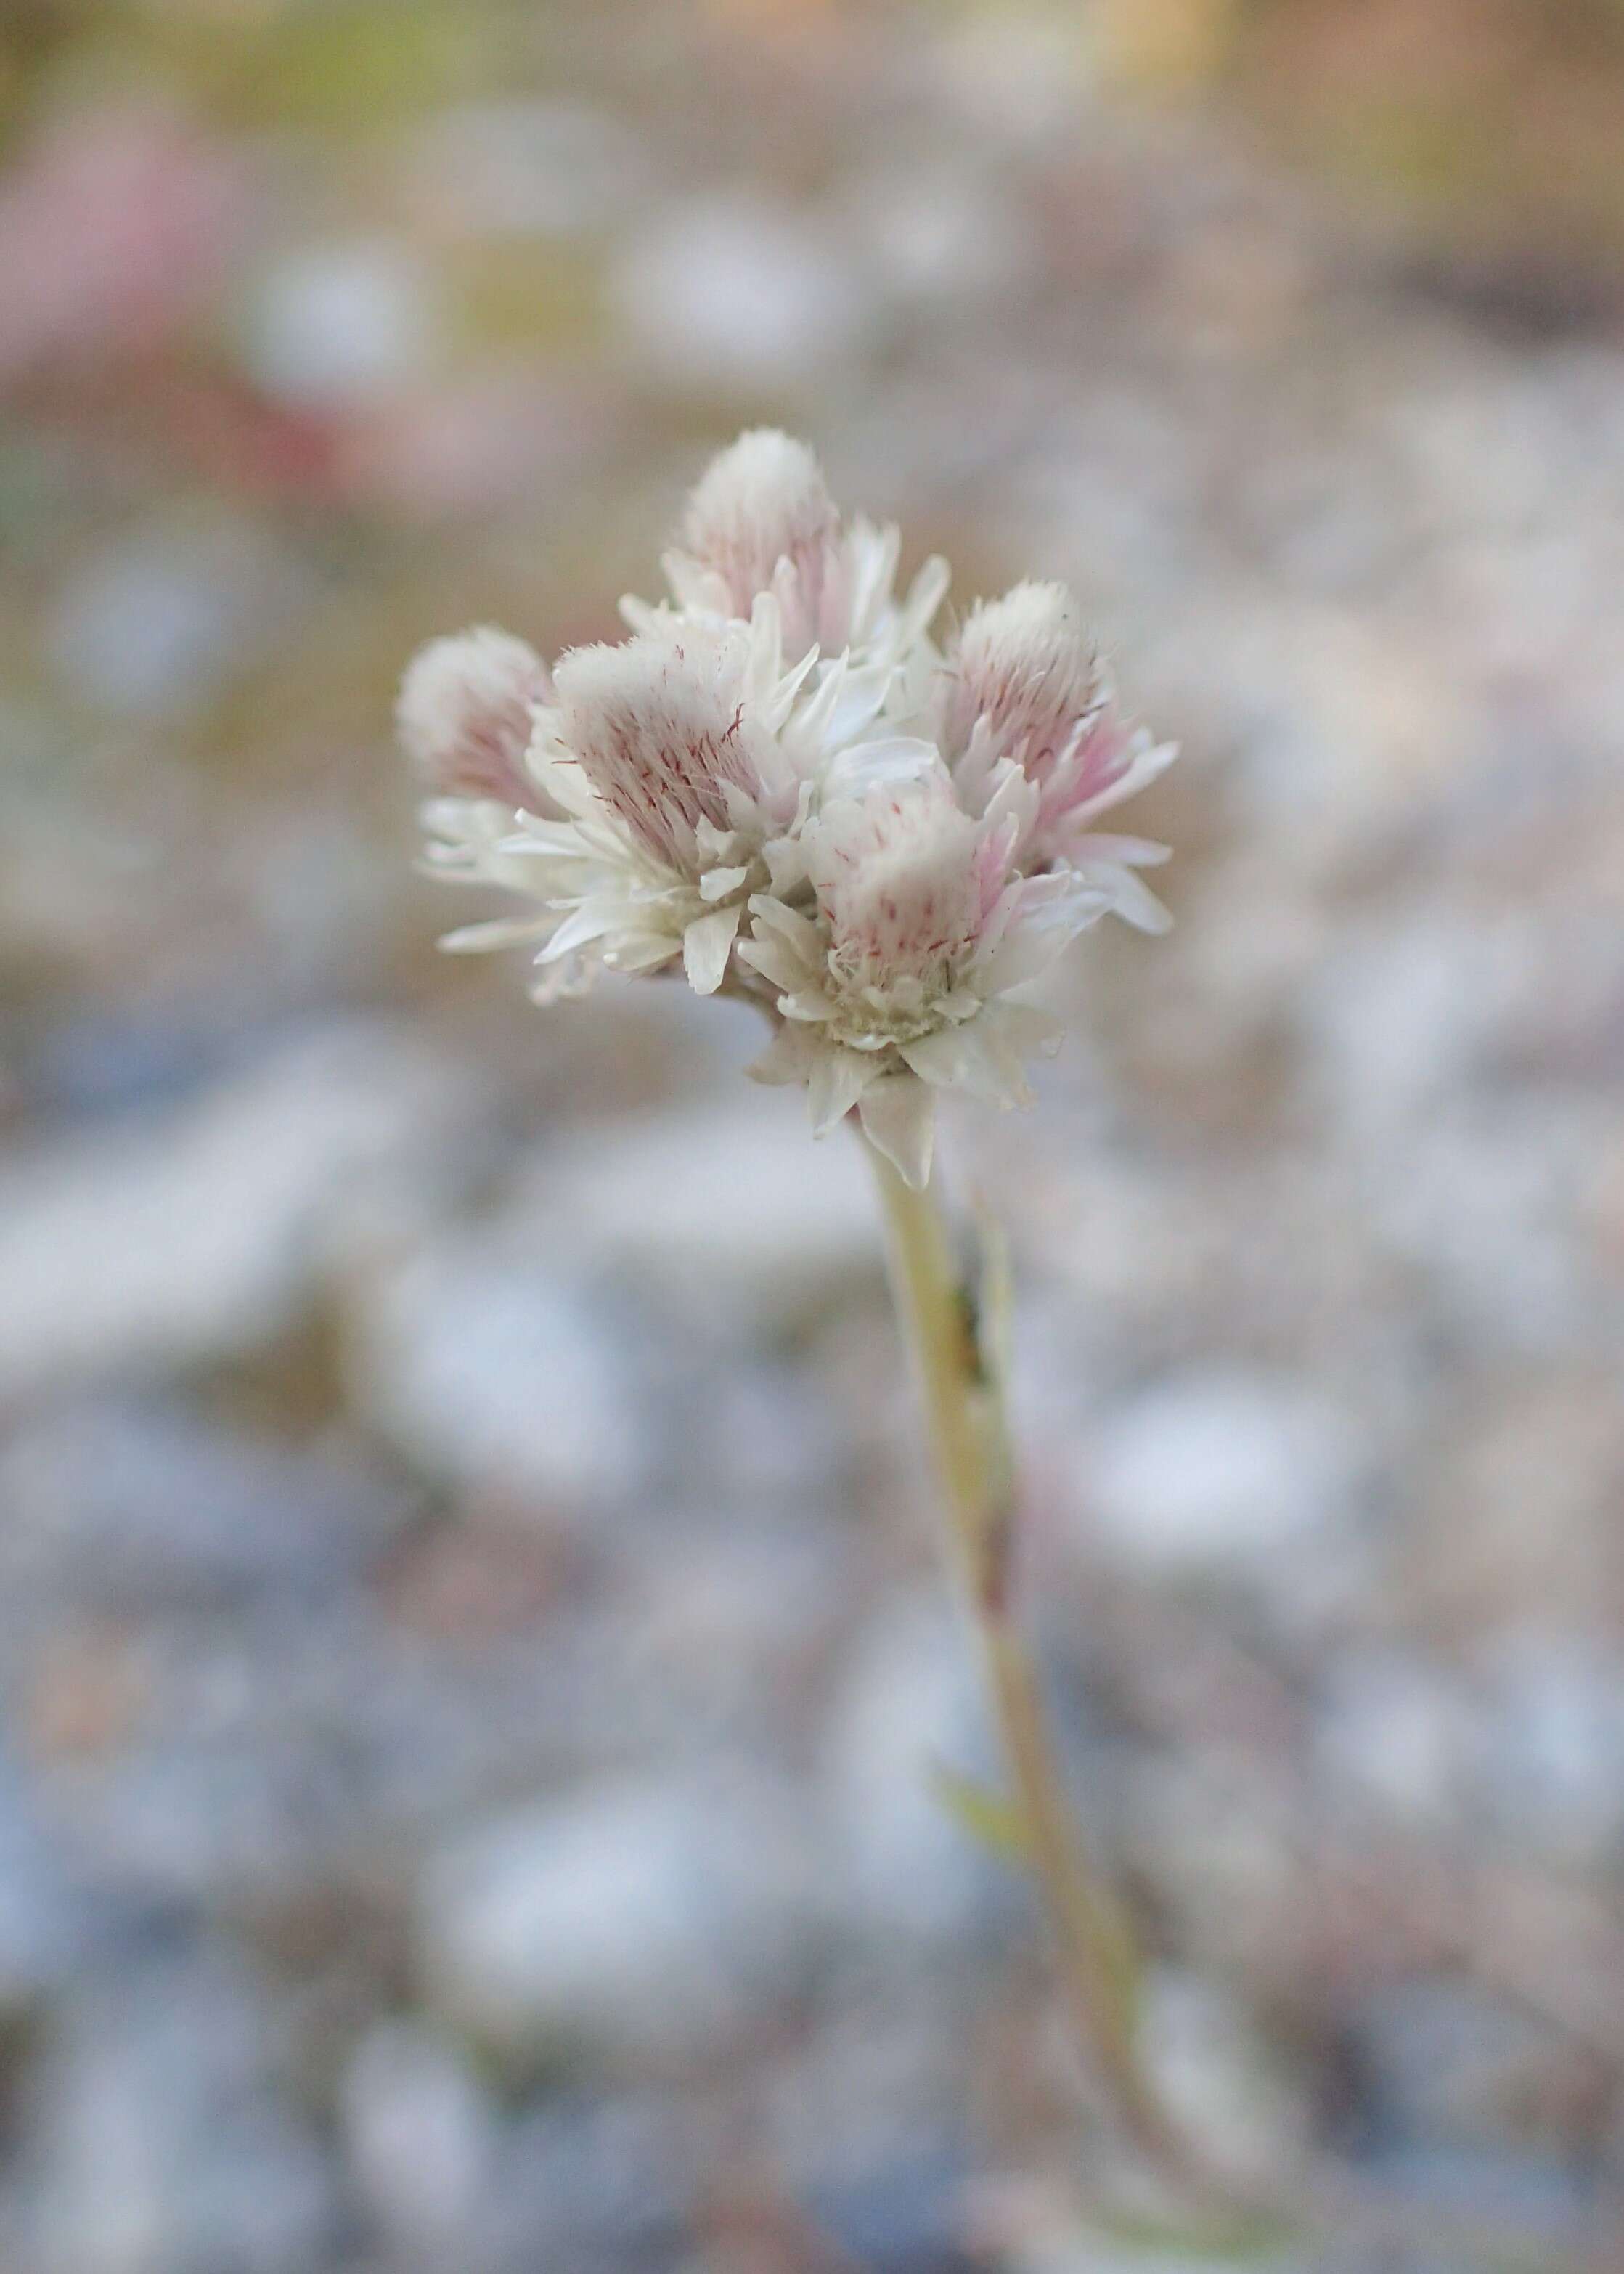
[[[748,421],[1185,744],[944,1146],[1169,2092],[1278,2267],[1624,2265],[1617,0],[5,0],[0,121],[0,2267],[1171,2265],[855,1146],[412,873],[409,650]]]

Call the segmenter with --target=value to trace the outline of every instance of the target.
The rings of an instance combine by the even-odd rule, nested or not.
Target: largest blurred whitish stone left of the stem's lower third
[[[751,1771],[600,1783],[514,1810],[425,1874],[428,1997],[516,2063],[714,2051],[805,1960],[803,1837]]]

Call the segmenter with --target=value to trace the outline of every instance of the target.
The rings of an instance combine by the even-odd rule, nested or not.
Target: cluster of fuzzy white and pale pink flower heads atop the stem
[[[400,689],[428,862],[521,896],[450,948],[535,946],[537,1001],[682,966],[773,1021],[751,1069],[857,1110],[912,1185],[933,1101],[1028,1101],[1058,1035],[1014,996],[1103,910],[1165,912],[1165,848],[1099,816],[1174,757],[1121,723],[1060,584],[933,639],[948,573],[896,596],[898,534],[842,521],[805,443],[741,434],[689,498],[671,598],[548,671],[507,632],[437,639]]]

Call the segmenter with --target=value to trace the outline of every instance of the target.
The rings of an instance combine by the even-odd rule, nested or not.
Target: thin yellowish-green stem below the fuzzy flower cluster
[[[1037,1674],[1014,1619],[1014,1458],[980,1296],[955,1262],[935,1189],[914,1192],[883,1153],[871,1144],[867,1151],[885,1210],[892,1294],[919,1376],[964,1603],[987,1665],[1014,1828],[1044,1899],[1071,2019],[1133,2142],[1183,2188],[1199,2183],[1210,2192],[1146,2074],[1133,1933],[1089,1867],[1067,1808]]]

